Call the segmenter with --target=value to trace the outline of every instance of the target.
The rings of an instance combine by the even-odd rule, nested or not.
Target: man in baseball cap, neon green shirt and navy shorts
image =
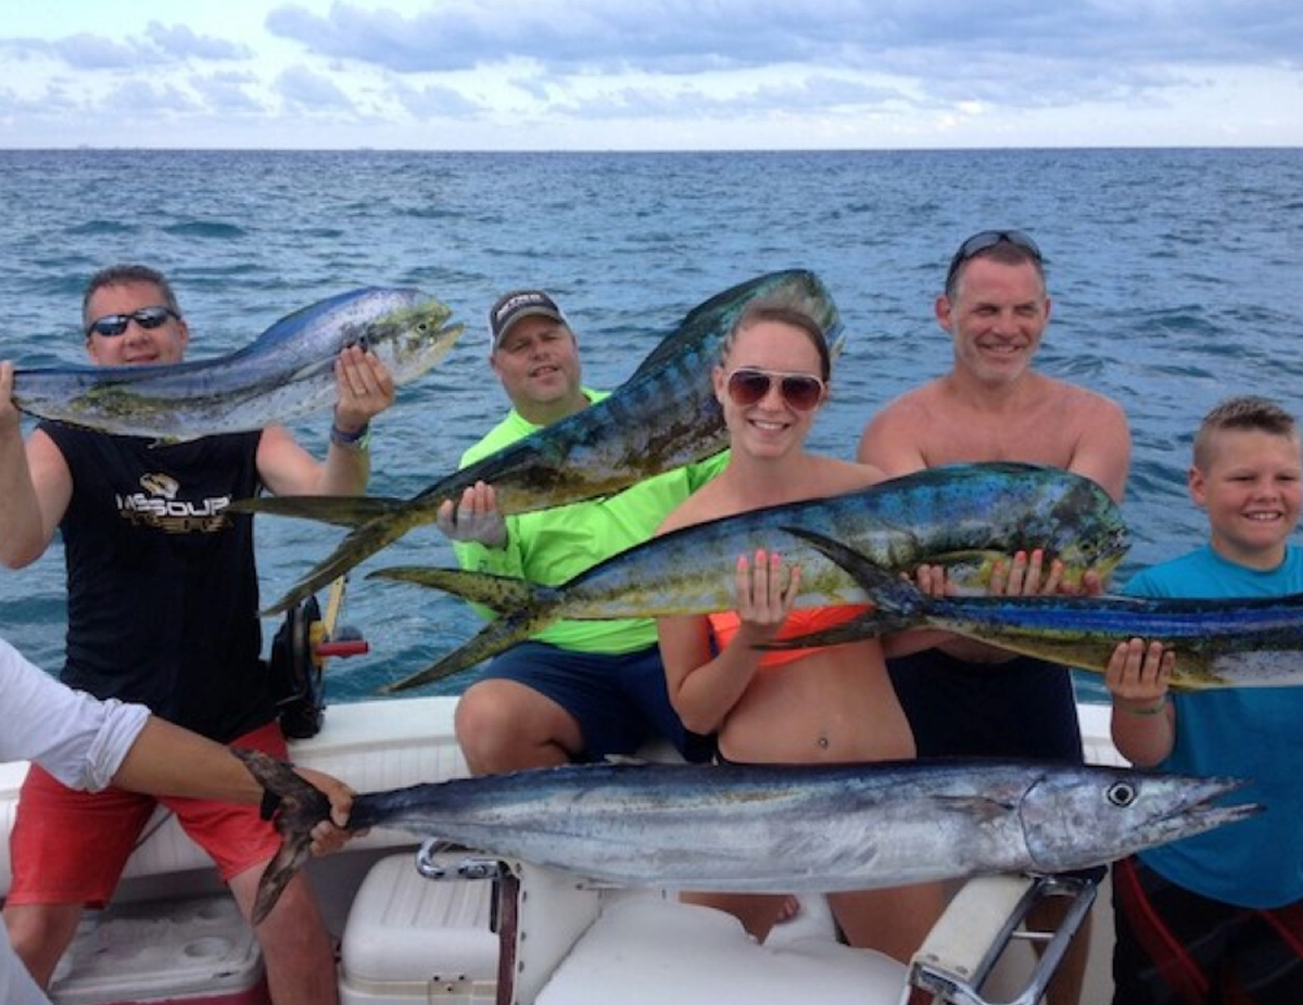
[[[609,393],[582,385],[575,332],[538,289],[512,290],[490,309],[489,366],[512,407],[463,454],[463,467]],[[724,462],[711,458],[607,499],[509,517],[481,482],[443,502],[438,526],[463,568],[555,586],[649,539]],[[476,775],[602,760],[654,738],[670,739],[689,760],[711,752],[670,706],[650,618],[558,621],[503,652],[461,695],[456,732]]]

